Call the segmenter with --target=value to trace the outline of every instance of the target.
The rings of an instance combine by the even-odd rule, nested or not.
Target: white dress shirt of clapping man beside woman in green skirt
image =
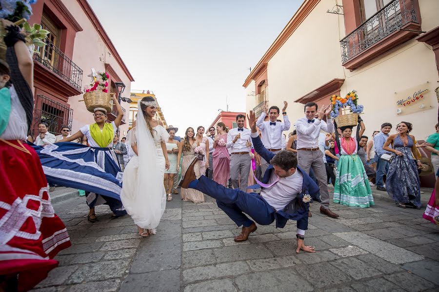
[[[313,119],[314,122],[308,123],[308,118],[302,117],[297,120],[297,149],[300,148],[318,148],[320,130],[326,133],[334,132],[334,124],[332,118],[328,118],[326,123],[318,118]]]

